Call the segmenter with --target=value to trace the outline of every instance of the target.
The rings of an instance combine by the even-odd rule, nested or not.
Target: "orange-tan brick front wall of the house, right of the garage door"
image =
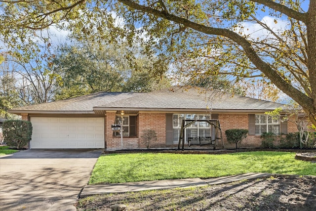
[[[108,150],[118,149],[146,149],[146,146],[142,144],[142,131],[144,129],[154,129],[157,133],[157,142],[151,144],[151,148],[164,148],[166,147],[166,114],[162,112],[139,112],[136,118],[136,137],[123,137],[123,146],[119,136],[113,136],[111,125],[115,123],[116,112],[107,112],[105,118],[105,140]],[[249,129],[248,114],[219,114],[223,142],[226,149],[235,149],[235,143],[228,143],[225,130],[238,128]],[[287,123],[288,132],[297,131],[297,127],[294,123]],[[257,148],[261,147],[262,139],[260,135],[247,135],[242,140],[239,148]],[[279,137],[276,137],[275,144],[278,144]],[[222,142],[218,140],[217,149],[223,148]]]

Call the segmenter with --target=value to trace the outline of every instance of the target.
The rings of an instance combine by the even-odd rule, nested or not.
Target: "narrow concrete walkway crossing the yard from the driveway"
[[[80,194],[80,198],[104,193],[125,193],[145,190],[161,190],[169,188],[199,187],[205,185],[223,184],[244,179],[267,178],[273,175],[274,174],[271,173],[244,173],[234,176],[223,176],[204,180],[200,178],[193,178],[86,185]]]

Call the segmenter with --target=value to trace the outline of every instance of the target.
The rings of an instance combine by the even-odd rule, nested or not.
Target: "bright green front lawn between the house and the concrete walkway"
[[[295,153],[288,152],[110,154],[98,159],[89,184],[211,178],[246,172],[316,175],[316,163],[295,160]]]

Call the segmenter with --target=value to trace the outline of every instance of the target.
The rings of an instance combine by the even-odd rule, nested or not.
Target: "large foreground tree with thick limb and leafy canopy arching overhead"
[[[32,44],[32,32],[50,26],[76,31],[81,39],[132,42],[143,36],[174,62],[181,55],[205,67],[188,74],[269,80],[316,125],[315,0],[0,2],[4,41]]]

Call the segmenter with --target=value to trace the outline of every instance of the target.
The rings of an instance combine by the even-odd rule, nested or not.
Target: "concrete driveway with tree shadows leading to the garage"
[[[24,150],[0,157],[0,210],[76,211],[102,150]]]

